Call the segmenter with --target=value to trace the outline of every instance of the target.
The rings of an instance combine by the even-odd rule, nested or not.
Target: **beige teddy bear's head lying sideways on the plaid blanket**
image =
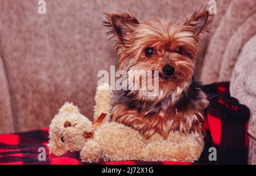
[[[60,156],[80,151],[92,135],[92,122],[82,115],[77,106],[65,102],[49,126],[49,151]]]

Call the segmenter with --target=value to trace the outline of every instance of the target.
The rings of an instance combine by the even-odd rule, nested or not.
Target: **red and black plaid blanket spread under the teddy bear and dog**
[[[208,114],[205,121],[205,130],[207,131],[207,138],[205,138],[205,151],[203,152],[200,161],[195,164],[209,164],[209,163],[221,163],[228,164],[227,162],[232,162],[236,160],[239,164],[244,164],[247,157],[247,133],[246,131],[246,118],[239,117],[239,113],[235,110],[236,107],[233,105],[233,102],[226,101],[225,97],[221,96],[223,93],[228,93],[228,83],[218,83],[206,85],[203,89],[207,93],[209,100],[215,98],[217,100],[217,104],[221,104],[224,108],[224,111],[218,111],[220,107],[216,106],[216,102],[214,104],[210,104],[206,113]],[[216,97],[217,95],[217,97]],[[228,96],[228,95],[226,95]],[[223,102],[219,102],[221,99]],[[231,97],[228,97],[231,98]],[[214,106],[213,106],[214,105]],[[232,110],[228,111],[225,107],[230,106],[233,107]],[[236,101],[237,109],[240,109],[239,103]],[[214,110],[215,111],[214,111]],[[244,110],[244,109],[243,109]],[[217,113],[216,113],[217,112]],[[224,114],[220,114],[220,112]],[[233,113],[233,114],[232,114]],[[225,120],[224,126],[222,125],[222,117],[223,116],[236,116],[235,119],[235,127],[239,128],[239,131],[234,135],[232,132],[232,127],[234,126],[234,120],[230,122],[229,119]],[[215,121],[212,123],[212,121]],[[226,118],[226,117],[225,117]],[[241,123],[236,123],[236,119],[239,122],[245,122],[245,126],[240,126]],[[246,120],[243,120],[246,119]],[[210,121],[211,123],[208,123]],[[231,125],[229,125],[231,124]],[[230,127],[231,126],[231,127]],[[223,129],[225,127],[228,131]],[[222,130],[220,130],[222,128]],[[216,130],[217,129],[217,130]],[[241,135],[240,135],[241,134]],[[230,137],[233,136],[233,137]],[[237,138],[240,136],[240,138]],[[228,140],[228,142],[227,142]],[[49,154],[49,150],[46,147],[48,141],[48,128],[30,132],[20,132],[16,134],[2,134],[0,135],[0,164],[15,164],[15,165],[24,165],[24,164],[52,164],[52,165],[80,165],[84,164],[80,161],[79,152],[69,152],[64,154],[63,156],[56,157],[52,154]],[[229,144],[236,143],[236,147],[232,147]],[[42,148],[43,147],[43,148]],[[209,161],[209,151],[210,147],[216,147],[218,153],[217,161]],[[46,152],[46,157],[40,158],[40,153]],[[235,158],[234,158],[234,153]],[[230,157],[232,156],[232,157]],[[228,160],[227,160],[228,159]],[[189,162],[144,162],[144,161],[120,161],[120,162],[100,162],[100,164],[105,165],[135,165],[135,164],[160,164],[160,165],[188,165],[192,164]]]

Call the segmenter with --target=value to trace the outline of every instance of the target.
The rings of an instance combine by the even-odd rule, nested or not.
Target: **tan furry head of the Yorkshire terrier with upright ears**
[[[116,41],[119,69],[158,71],[163,97],[187,86],[195,70],[200,35],[208,31],[211,21],[207,10],[196,11],[181,22],[160,18],[139,22],[130,14],[106,16],[104,23]]]

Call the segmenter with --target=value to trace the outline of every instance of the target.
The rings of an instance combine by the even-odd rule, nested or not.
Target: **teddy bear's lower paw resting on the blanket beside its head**
[[[83,162],[99,162],[101,158],[100,145],[93,140],[87,141],[82,147],[80,158]]]

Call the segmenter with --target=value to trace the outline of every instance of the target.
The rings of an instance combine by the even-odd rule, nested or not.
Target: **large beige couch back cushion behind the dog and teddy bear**
[[[97,72],[117,65],[114,41],[108,41],[108,29],[102,27],[102,12],[127,12],[129,8],[138,19],[151,15],[182,19],[206,3],[46,1],[46,14],[38,14],[35,1],[0,4],[3,59],[14,122],[17,131],[25,131],[47,127],[65,101],[78,104],[82,114],[92,118]]]

